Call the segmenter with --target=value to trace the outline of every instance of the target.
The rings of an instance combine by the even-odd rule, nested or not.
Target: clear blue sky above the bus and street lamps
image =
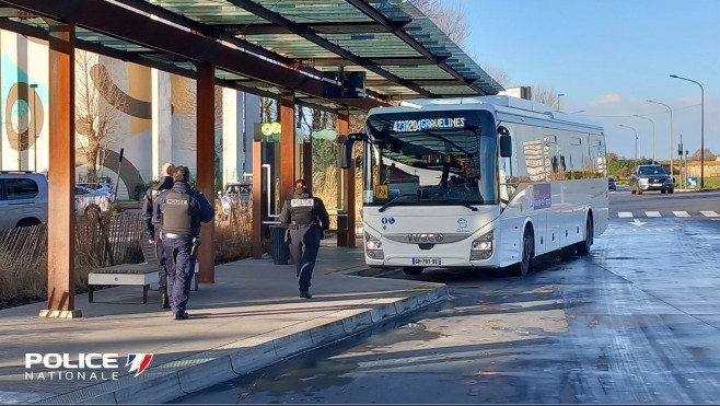
[[[705,89],[705,147],[720,154],[720,0],[444,0],[468,15],[467,54],[508,72],[512,85],[564,93],[565,112],[601,121],[612,152],[670,158],[683,135],[700,148],[700,88]],[[720,164],[718,165],[720,172]]]

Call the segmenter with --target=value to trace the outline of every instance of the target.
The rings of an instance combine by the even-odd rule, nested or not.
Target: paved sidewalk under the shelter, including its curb
[[[445,286],[352,276],[362,250],[327,246],[313,276],[313,299],[298,298],[294,265],[244,259],[216,267],[216,283],[190,293],[187,321],[148,304],[88,303],[76,297],[78,320],[39,318],[45,303],[0,311],[0,403],[162,403],[234,379],[292,355],[349,337],[393,317],[445,300]],[[139,287],[95,293],[96,301],[141,302]],[[44,367],[25,369],[25,353],[117,353],[117,380],[49,379]],[[153,353],[135,378],[128,353]],[[84,371],[86,378],[92,370]],[[32,371],[35,380],[27,380]],[[45,380],[37,380],[45,371]],[[77,375],[76,375],[77,376]]]

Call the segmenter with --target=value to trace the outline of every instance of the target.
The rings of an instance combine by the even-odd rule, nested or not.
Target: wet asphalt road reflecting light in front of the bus
[[[611,196],[590,256],[545,257],[525,278],[413,277],[453,301],[177,402],[717,404],[720,221],[700,210],[720,198],[648,218],[670,196]]]

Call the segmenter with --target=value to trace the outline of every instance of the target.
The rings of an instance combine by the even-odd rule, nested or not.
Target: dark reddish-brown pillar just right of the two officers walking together
[[[214,207],[214,67],[197,63],[197,188]],[[200,231],[198,281],[214,283],[214,221]]]

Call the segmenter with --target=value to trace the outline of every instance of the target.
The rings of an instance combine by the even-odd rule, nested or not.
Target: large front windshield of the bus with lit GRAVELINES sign
[[[488,112],[368,117],[365,206],[497,205],[497,136]]]

